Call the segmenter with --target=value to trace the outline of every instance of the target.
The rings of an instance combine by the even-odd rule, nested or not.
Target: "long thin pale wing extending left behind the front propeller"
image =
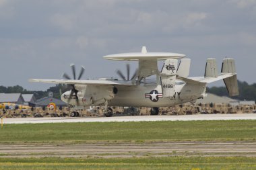
[[[132,81],[110,81],[110,80],[64,80],[64,79],[29,79],[30,82],[76,84],[76,85],[127,85],[133,86]]]

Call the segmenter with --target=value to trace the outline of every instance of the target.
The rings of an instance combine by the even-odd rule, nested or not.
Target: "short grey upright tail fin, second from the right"
[[[204,77],[218,77],[218,68],[215,58],[207,58]]]

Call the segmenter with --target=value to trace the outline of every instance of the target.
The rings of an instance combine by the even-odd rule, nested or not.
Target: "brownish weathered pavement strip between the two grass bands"
[[[156,142],[144,144],[0,145],[1,157],[256,157],[255,142]]]

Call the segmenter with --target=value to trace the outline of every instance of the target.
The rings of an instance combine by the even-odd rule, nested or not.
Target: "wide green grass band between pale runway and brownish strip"
[[[5,124],[0,143],[254,141],[256,120]]]

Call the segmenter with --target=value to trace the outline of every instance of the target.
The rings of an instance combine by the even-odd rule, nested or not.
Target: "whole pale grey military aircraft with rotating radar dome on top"
[[[130,78],[127,65],[127,77],[117,71],[122,80],[97,79],[81,80],[82,67],[78,79],[75,65],[71,65],[73,79],[63,74],[65,79],[30,79],[32,82],[67,84],[70,91],[61,95],[61,99],[70,105],[104,105],[105,115],[112,116],[108,106],[151,107],[151,114],[157,115],[159,107],[194,103],[205,97],[207,83],[223,79],[230,96],[238,95],[238,83],[234,59],[224,58],[221,73],[215,58],[208,58],[204,77],[189,77],[191,60],[185,54],[172,52],[147,52],[145,46],[141,52],[112,54],[103,56],[108,60],[137,61],[139,67]],[[158,60],[165,60],[162,70],[158,70]],[[179,62],[179,65],[178,65]],[[156,79],[148,79],[154,75]]]

